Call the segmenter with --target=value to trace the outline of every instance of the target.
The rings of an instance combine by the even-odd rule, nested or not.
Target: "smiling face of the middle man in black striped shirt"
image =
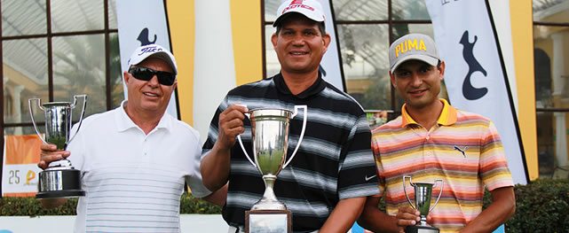
[[[292,13],[282,21],[281,31],[273,34],[271,41],[282,71],[304,74],[318,69],[330,35],[322,35],[317,22]]]

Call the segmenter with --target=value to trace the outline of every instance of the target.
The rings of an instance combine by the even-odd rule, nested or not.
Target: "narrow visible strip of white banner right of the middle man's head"
[[[334,19],[332,18],[331,2],[332,0],[321,0],[322,10],[324,10],[324,15],[326,17],[324,25],[326,26],[326,32],[330,34],[330,44],[328,45],[328,50],[324,53],[324,57],[320,61],[320,72],[326,82],[334,85],[337,89],[344,89],[344,77],[342,76],[342,70],[340,69],[340,56],[338,55],[338,38],[336,36],[336,27],[334,25]]]

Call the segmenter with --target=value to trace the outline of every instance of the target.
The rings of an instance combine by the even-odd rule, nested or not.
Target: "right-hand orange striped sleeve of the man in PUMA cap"
[[[490,121],[480,138],[479,174],[488,190],[513,186],[510,169],[502,146],[502,140]]]

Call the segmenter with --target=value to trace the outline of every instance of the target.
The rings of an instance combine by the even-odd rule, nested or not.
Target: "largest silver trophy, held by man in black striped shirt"
[[[303,128],[295,151],[287,161],[288,125],[299,109],[303,109]],[[253,142],[253,161],[243,143],[237,136],[242,151],[249,162],[257,167],[265,182],[265,193],[251,210],[245,213],[246,232],[292,232],[292,220],[287,206],[274,195],[273,185],[277,175],[295,157],[303,140],[306,128],[306,105],[296,105],[295,112],[285,109],[262,108],[249,111],[246,115],[251,121],[251,141]]]

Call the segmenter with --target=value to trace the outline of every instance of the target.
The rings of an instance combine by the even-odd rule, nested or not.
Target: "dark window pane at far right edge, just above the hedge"
[[[537,113],[537,146],[540,177],[555,177],[560,169],[569,169],[568,113]],[[563,178],[566,178],[563,177]]]

